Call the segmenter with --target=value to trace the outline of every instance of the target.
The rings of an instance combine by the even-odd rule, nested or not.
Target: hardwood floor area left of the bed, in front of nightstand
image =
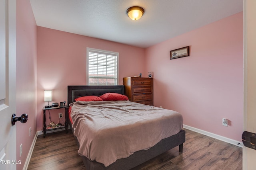
[[[38,136],[28,170],[85,169],[77,153],[74,135],[69,131]]]

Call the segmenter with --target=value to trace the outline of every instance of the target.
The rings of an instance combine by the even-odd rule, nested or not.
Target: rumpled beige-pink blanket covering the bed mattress
[[[74,102],[70,106],[78,154],[105,166],[149,149],[183,127],[182,115],[176,111],[129,101]]]

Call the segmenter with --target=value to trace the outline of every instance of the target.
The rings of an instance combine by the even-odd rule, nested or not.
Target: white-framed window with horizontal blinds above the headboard
[[[118,84],[117,52],[86,48],[87,85]]]

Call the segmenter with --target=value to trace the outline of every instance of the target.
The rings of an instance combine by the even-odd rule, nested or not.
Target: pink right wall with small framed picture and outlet
[[[189,57],[170,60],[170,50],[188,45]],[[242,12],[146,49],[146,70],[154,71],[154,106],[182,113],[185,125],[241,141]]]

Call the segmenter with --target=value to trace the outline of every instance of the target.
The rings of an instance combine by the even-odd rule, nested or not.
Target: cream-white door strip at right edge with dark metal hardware
[[[244,131],[256,133],[256,0],[244,0]],[[256,136],[255,136],[256,137]],[[243,169],[255,170],[256,150],[243,147]]]

